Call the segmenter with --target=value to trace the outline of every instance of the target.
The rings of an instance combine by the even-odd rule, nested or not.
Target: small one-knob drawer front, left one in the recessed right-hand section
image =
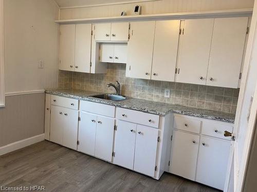
[[[198,119],[188,118],[186,116],[174,117],[174,128],[192,133],[200,133],[201,121]]]

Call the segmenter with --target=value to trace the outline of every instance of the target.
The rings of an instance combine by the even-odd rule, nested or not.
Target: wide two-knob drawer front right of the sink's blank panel
[[[117,108],[116,118],[146,126],[159,127],[159,115]]]

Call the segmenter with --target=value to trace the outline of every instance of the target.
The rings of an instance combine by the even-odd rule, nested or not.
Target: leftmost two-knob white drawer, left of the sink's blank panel
[[[70,108],[73,110],[79,109],[79,100],[66,98],[66,97],[60,97],[60,96],[56,96],[56,95],[51,95],[51,104],[63,106],[64,108]]]

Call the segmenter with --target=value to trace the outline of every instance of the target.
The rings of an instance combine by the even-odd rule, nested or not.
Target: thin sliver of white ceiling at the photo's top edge
[[[147,1],[159,1],[159,0],[54,0],[60,8],[66,7],[91,7],[98,5],[114,5],[123,3],[136,3]]]

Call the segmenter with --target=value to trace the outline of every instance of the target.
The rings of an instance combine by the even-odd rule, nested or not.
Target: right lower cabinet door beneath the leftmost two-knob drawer
[[[63,145],[77,150],[79,111],[63,109]]]

